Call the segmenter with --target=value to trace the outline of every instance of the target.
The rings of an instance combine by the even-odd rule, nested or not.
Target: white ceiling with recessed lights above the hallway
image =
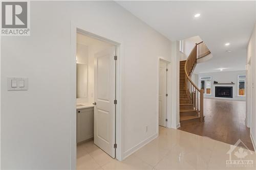
[[[244,70],[246,47],[255,23],[255,1],[117,1],[170,40],[200,36],[211,60],[196,72]],[[201,16],[194,18],[196,13]],[[229,46],[225,46],[230,42]],[[231,50],[231,53],[227,53]]]

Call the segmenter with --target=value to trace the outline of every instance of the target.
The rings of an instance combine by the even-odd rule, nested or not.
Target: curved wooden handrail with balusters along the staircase
[[[198,113],[198,116],[200,116],[201,122],[204,122],[204,113],[203,113],[204,90],[199,89],[197,85],[190,79],[190,76],[192,75],[192,72],[196,67],[197,59],[205,57],[208,54],[210,54],[210,51],[203,41],[196,43],[193,50],[189,54],[184,66],[185,90],[186,90],[187,98],[189,99],[189,104],[193,105],[194,109],[197,110],[197,113]]]

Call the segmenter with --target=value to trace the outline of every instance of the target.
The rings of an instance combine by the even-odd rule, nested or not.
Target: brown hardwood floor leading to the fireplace
[[[179,129],[229,144],[241,139],[253,151],[250,129],[245,125],[245,108],[245,101],[204,99],[205,122]]]

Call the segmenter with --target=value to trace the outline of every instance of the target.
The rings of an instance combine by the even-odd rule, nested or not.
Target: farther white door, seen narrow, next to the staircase
[[[159,63],[159,125],[166,127],[167,64]]]

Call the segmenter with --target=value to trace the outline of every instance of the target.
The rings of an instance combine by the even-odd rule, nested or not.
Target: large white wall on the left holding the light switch
[[[121,158],[156,137],[157,60],[177,61],[171,42],[115,2],[32,1],[30,7],[31,36],[1,37],[1,168],[75,168],[71,21],[121,44]],[[7,77],[28,77],[29,90],[7,91]],[[176,93],[179,77],[172,77]]]

